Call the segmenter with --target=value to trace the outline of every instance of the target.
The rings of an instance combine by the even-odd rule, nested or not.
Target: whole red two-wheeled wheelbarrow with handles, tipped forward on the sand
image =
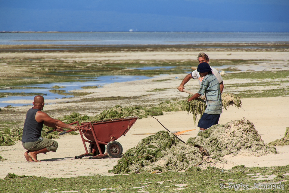
[[[115,119],[106,119],[94,122],[80,123],[76,121],[69,125],[77,124],[79,126],[79,133],[82,139],[85,153],[76,156],[75,159],[90,156],[89,159],[99,159],[104,157],[116,158],[120,157],[123,153],[123,147],[115,140],[125,135],[132,125],[138,119],[137,116],[122,117]],[[59,135],[68,133],[70,130],[53,129],[46,133],[53,131],[64,131]],[[85,136],[84,139],[83,136]],[[85,142],[89,143],[89,149],[87,149]],[[105,147],[106,145],[106,147]],[[106,151],[106,153],[104,153]]]

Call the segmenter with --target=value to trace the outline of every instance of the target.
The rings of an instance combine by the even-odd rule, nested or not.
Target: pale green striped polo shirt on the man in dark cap
[[[220,84],[214,74],[208,74],[204,77],[200,85],[199,94],[205,95],[207,99],[207,114],[221,114],[222,113],[222,98],[220,91]]]

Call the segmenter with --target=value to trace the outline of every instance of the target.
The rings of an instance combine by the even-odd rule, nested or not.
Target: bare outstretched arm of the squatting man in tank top
[[[42,122],[44,121],[44,124],[48,127],[53,127],[53,128],[67,128],[67,129],[72,129],[72,130],[77,130],[79,129],[79,126],[72,126],[72,125],[68,125],[64,122],[62,122],[61,120],[58,120],[58,119],[53,119],[51,118],[49,115],[47,115],[45,112],[42,112],[42,111],[37,111],[36,112],[36,115],[35,115],[35,120],[37,122]]]

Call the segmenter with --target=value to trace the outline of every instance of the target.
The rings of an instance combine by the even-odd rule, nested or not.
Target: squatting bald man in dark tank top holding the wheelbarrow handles
[[[58,143],[51,139],[41,137],[43,124],[52,128],[68,128],[76,131],[79,126],[68,125],[60,120],[53,119],[45,112],[42,112],[44,107],[44,97],[37,95],[33,100],[33,107],[26,113],[26,119],[23,126],[22,145],[27,151],[24,157],[27,161],[37,160],[37,154],[46,153],[48,151],[56,151]]]

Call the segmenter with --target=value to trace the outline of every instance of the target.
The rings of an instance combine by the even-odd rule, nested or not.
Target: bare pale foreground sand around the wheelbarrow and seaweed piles
[[[253,122],[255,128],[261,134],[265,143],[281,138],[287,126],[289,126],[289,97],[272,98],[247,98],[242,99],[243,109],[237,109],[230,106],[227,111],[221,115],[220,124],[231,120],[243,119],[246,117]],[[157,119],[166,128],[171,131],[182,131],[195,128],[193,126],[192,115],[186,115],[186,112],[167,112],[163,116],[157,116]],[[162,126],[153,118],[138,119],[135,125],[130,129],[126,136],[119,138],[124,152],[134,147],[138,141],[148,135],[132,135],[144,132],[156,132],[163,130]],[[196,130],[188,132],[189,135],[182,135],[187,140],[189,137],[195,137]],[[112,175],[107,173],[117,163],[117,159],[89,160],[88,157],[74,159],[76,155],[84,153],[84,147],[79,135],[64,135],[56,139],[59,148],[56,153],[48,152],[39,154],[40,163],[27,162],[24,159],[23,147],[21,143],[14,146],[0,147],[0,155],[7,160],[0,162],[0,178],[4,178],[8,173],[17,175],[35,175],[42,177],[76,177],[86,175]],[[268,154],[266,156],[225,156],[232,163],[218,165],[225,169],[232,166],[245,164],[245,166],[284,166],[289,164],[289,147],[277,147],[280,154]]]

